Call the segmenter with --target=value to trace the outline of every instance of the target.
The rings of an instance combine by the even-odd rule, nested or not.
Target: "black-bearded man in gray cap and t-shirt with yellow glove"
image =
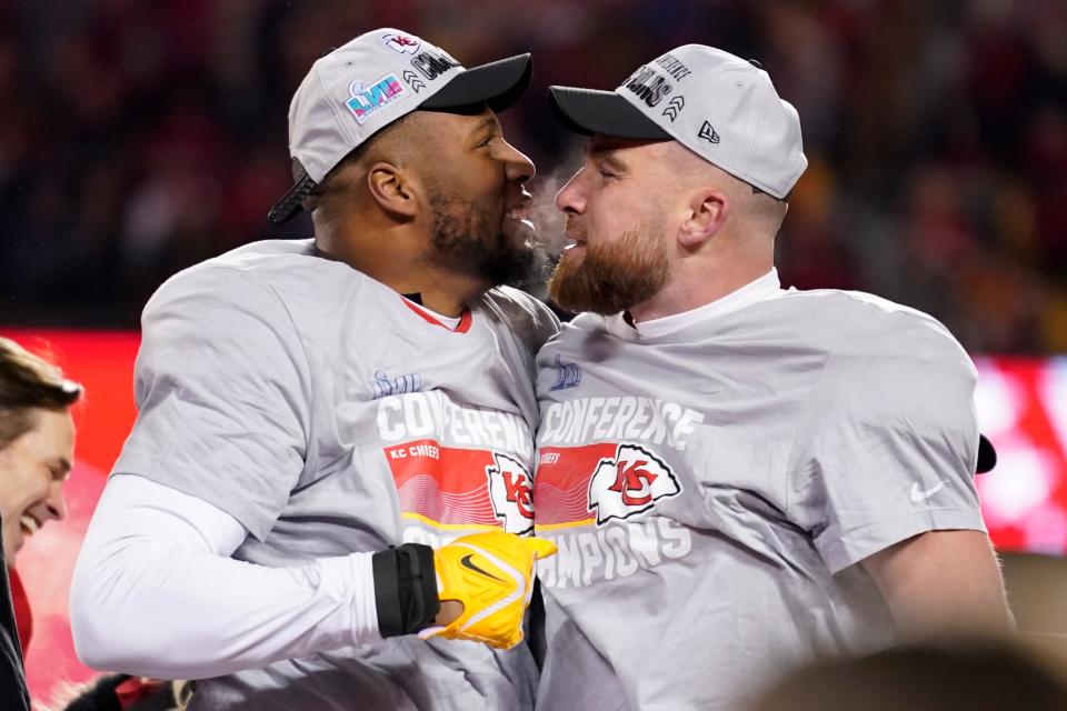
[[[200,679],[192,709],[532,705],[520,624],[552,547],[516,534],[558,322],[498,288],[539,260],[534,166],[496,118],[529,76],[392,29],[311,68],[270,218],[310,209],[313,239],[146,307],[139,417],[74,574],[90,665]]]

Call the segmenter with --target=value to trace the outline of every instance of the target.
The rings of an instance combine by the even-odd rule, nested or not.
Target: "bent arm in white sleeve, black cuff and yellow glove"
[[[112,477],[71,584],[79,657],[109,671],[201,679],[420,631],[509,648],[522,639],[534,560],[555,550],[491,532],[437,551],[407,544],[270,568],[228,557],[245,537],[207,501]],[[471,554],[497,572],[471,577],[460,558]]]

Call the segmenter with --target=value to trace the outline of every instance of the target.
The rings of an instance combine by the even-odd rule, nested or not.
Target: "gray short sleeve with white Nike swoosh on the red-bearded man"
[[[794,441],[788,515],[831,573],[926,531],[985,531],[975,367],[943,326],[890,308],[827,358]]]

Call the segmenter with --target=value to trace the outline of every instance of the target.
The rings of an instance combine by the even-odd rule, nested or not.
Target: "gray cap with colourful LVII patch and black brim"
[[[267,218],[282,223],[353,149],[400,117],[422,109],[486,104],[507,109],[530,83],[530,56],[463,68],[426,40],[392,28],[360,34],[311,66],[289,104],[296,184]]]

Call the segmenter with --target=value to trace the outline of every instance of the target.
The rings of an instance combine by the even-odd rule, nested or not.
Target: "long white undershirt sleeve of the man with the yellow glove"
[[[372,553],[269,568],[229,558],[246,535],[201,499],[113,475],[71,584],[78,657],[101,670],[202,679],[381,641]]]

